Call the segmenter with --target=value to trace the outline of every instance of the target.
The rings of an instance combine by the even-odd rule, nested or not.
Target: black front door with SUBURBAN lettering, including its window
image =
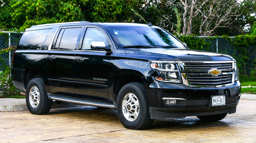
[[[76,94],[108,99],[111,53],[91,49],[93,41],[103,41],[110,46],[104,29],[87,27],[81,37],[81,46],[75,53],[74,89]],[[88,96],[87,96],[88,97]]]

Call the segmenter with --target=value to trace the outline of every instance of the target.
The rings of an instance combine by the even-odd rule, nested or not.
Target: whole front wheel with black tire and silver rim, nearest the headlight
[[[117,96],[117,114],[125,128],[140,130],[148,128],[150,118],[145,86],[142,83],[124,85]]]

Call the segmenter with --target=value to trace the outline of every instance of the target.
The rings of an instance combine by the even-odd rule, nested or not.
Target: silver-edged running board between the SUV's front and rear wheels
[[[81,105],[89,105],[89,106],[96,106],[96,107],[105,107],[105,108],[116,108],[114,102],[108,102],[108,101],[98,101],[88,98],[79,98],[79,97],[70,97],[70,96],[64,96],[64,95],[58,95],[53,93],[47,93],[48,98],[52,100],[57,101],[63,101],[63,102],[70,102],[75,104],[81,104]]]

